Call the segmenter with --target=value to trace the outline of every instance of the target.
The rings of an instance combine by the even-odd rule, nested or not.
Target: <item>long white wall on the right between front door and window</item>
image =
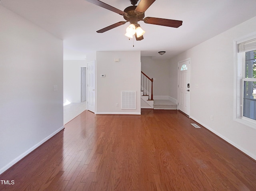
[[[191,118],[254,159],[256,129],[233,120],[233,41],[255,32],[255,23],[256,17],[171,59],[175,68],[178,61],[191,58]]]

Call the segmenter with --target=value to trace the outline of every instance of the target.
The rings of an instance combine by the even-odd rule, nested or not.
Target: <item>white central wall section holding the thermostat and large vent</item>
[[[96,114],[140,114],[140,51],[98,51],[96,57]],[[121,109],[121,91],[136,91],[136,110]]]

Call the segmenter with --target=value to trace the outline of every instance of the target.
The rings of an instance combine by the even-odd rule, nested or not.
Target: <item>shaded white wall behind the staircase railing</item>
[[[152,57],[141,57],[141,70],[153,78],[153,95],[168,96],[169,95],[169,60],[153,60]]]

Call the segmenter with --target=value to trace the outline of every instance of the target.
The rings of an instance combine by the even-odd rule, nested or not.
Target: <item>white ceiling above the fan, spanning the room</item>
[[[120,10],[131,6],[130,0],[102,2]],[[85,59],[90,51],[141,51],[142,56],[168,59],[256,16],[256,0],[156,0],[145,17],[182,20],[182,26],[141,21],[144,39],[133,41],[124,36],[128,23],[96,33],[125,20],[86,0],[1,0],[0,5],[63,39],[64,59]],[[158,51],[166,54],[161,56]]]

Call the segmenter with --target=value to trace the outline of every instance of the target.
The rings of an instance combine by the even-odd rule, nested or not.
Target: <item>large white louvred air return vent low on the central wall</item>
[[[121,109],[136,109],[136,91],[122,91]]]

